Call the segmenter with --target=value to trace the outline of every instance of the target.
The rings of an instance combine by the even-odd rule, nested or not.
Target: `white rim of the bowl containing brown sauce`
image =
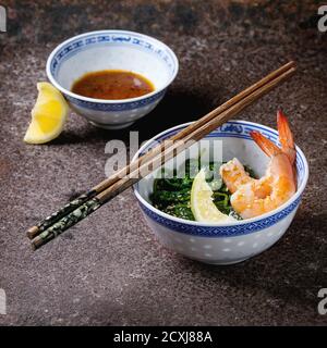
[[[164,85],[164,87],[155,89],[154,91],[141,96],[141,97],[135,97],[135,98],[126,98],[126,99],[97,99],[97,98],[89,98],[89,97],[84,97],[77,94],[72,92],[71,90],[62,87],[57,79],[55,78],[55,76],[51,73],[51,62],[53,60],[53,57],[57,54],[57,52],[63,48],[65,45],[68,45],[69,42],[78,39],[78,38],[83,38],[89,35],[97,35],[97,34],[110,34],[110,33],[120,33],[120,34],[130,34],[130,35],[134,35],[134,36],[140,36],[143,38],[147,38],[148,40],[153,40],[159,45],[161,45],[172,57],[173,63],[174,63],[174,73],[172,74],[172,76],[168,79],[168,82]],[[128,102],[135,102],[135,101],[140,101],[146,98],[149,98],[152,96],[155,96],[159,92],[161,92],[162,90],[165,90],[175,78],[178,72],[179,72],[179,60],[175,55],[175,53],[173,52],[173,50],[166,45],[165,42],[158,40],[155,37],[152,37],[149,35],[146,34],[142,34],[142,33],[137,33],[137,32],[132,32],[132,30],[122,30],[122,29],[102,29],[102,30],[94,30],[94,32],[87,32],[87,33],[83,33],[80,35],[75,35],[64,41],[62,41],[61,44],[59,44],[50,53],[50,55],[47,59],[47,65],[46,65],[46,72],[47,72],[47,76],[50,80],[50,83],[57,88],[59,89],[62,94],[70,96],[71,98],[74,99],[78,99],[78,100],[83,100],[86,102],[93,102],[93,103],[105,103],[105,104],[116,104],[116,103],[128,103]]]

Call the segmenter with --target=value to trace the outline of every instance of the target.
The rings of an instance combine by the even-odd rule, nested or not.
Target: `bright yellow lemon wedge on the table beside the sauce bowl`
[[[61,92],[49,83],[38,83],[38,97],[32,110],[32,122],[24,141],[45,144],[53,140],[63,129],[69,105]]]

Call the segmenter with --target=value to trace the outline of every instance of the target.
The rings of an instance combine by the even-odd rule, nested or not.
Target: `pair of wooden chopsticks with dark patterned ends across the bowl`
[[[27,236],[29,239],[33,239],[32,246],[34,250],[52,240],[81,220],[87,217],[110,199],[185,150],[194,144],[194,141],[201,140],[207,134],[284,82],[294,72],[294,62],[291,61],[282,65],[172,136],[169,139],[169,146],[167,146],[167,142],[158,145],[136,161],[121,169],[112,176],[46,217],[36,226],[31,227],[27,231]]]

